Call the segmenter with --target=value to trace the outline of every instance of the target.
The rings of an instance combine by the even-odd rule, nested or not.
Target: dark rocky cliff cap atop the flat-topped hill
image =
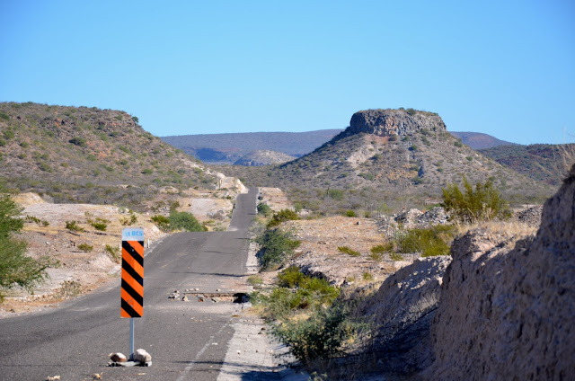
[[[367,134],[389,137],[410,135],[420,129],[429,132],[446,132],[446,124],[433,112],[405,110],[366,110],[358,111],[349,122],[349,134]]]

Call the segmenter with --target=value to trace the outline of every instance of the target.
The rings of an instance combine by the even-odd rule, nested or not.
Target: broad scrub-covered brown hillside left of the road
[[[55,202],[137,206],[160,187],[214,188],[216,173],[124,111],[0,103],[0,176]]]

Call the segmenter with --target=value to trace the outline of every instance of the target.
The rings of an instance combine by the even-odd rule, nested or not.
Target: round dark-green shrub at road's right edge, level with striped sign
[[[260,251],[256,254],[261,270],[278,269],[290,256],[301,242],[294,240],[289,232],[279,228],[267,229],[255,238],[260,245]]]

